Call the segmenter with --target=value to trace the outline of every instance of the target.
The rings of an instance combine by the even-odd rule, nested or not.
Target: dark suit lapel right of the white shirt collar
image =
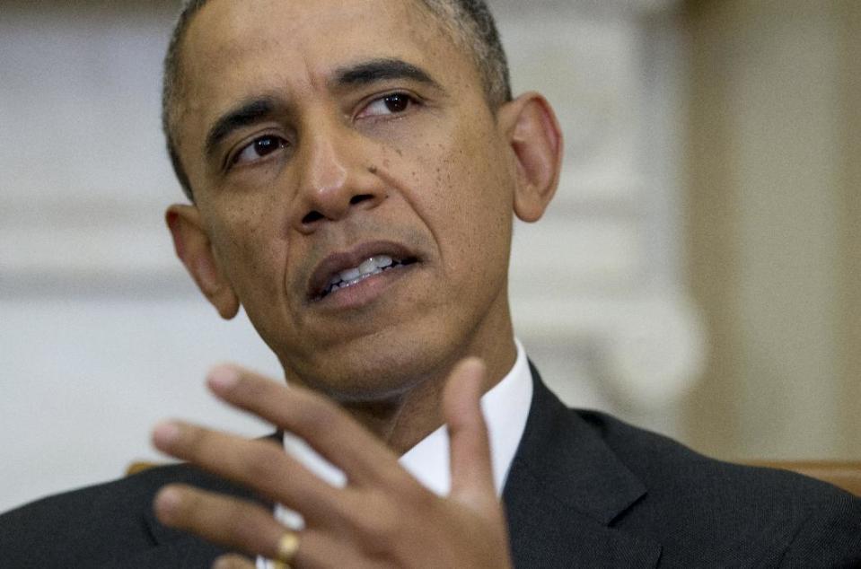
[[[646,487],[534,367],[532,377],[532,407],[503,493],[514,565],[655,566],[658,544],[611,527]]]

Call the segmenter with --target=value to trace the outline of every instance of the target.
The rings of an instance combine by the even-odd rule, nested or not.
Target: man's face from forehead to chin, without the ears
[[[391,0],[213,0],[183,54],[200,223],[288,379],[364,399],[493,369],[516,171],[469,54]]]

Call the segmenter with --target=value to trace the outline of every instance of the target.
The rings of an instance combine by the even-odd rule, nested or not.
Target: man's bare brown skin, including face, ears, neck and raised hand
[[[178,143],[196,203],[168,210],[177,253],[224,318],[242,305],[292,387],[234,368],[219,368],[210,386],[320,447],[347,473],[347,491],[356,484],[376,502],[327,495],[309,481],[295,486],[312,499],[294,503],[295,487],[272,485],[296,479],[297,465],[263,442],[171,424],[156,431],[156,446],[310,518],[297,566],[345,566],[321,551],[349,566],[505,566],[478,398],[514,364],[513,214],[539,219],[558,182],[561,136],[549,104],[527,93],[490,109],[470,57],[409,1],[213,0],[192,22],[183,54]],[[381,61],[385,77],[356,73],[379,72]],[[403,64],[420,73],[403,73]],[[266,101],[268,111],[222,129],[207,149],[215,124],[249,101]],[[391,251],[417,262],[315,300],[310,283],[333,255],[360,262]],[[456,367],[468,356],[482,363]],[[219,388],[225,373],[245,378],[241,387]],[[318,407],[322,418],[309,411]],[[444,422],[456,455],[449,500],[397,463]],[[371,466],[374,484],[363,482]],[[156,511],[171,525],[271,555],[277,522],[246,507],[171,488]],[[369,526],[381,512],[421,521],[426,527],[412,530],[427,543]],[[237,529],[232,521],[245,514],[268,530]],[[345,531],[356,539],[333,537]],[[470,535],[478,541],[463,543]],[[435,565],[428,551],[443,557]]]

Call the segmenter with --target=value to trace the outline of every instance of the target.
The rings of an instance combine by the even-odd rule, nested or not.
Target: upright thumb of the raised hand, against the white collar
[[[481,412],[486,368],[478,358],[458,363],[443,391],[452,468],[451,497],[473,509],[497,506],[488,426]]]

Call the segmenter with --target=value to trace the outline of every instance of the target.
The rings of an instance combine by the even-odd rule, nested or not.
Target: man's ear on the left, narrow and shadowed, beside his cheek
[[[164,219],[171,230],[176,255],[191,278],[221,317],[232,319],[239,311],[239,298],[218,268],[197,206],[170,206]]]

